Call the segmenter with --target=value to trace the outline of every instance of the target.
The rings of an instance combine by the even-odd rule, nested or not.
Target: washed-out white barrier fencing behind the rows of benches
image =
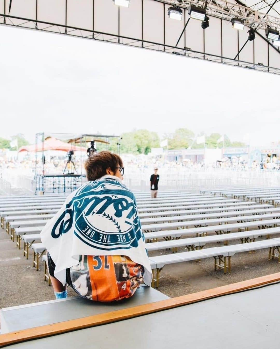
[[[125,169],[124,183],[133,191],[149,190],[153,169]],[[202,188],[280,187],[278,170],[184,169],[161,168],[159,190],[199,191]],[[27,195],[35,193],[34,174],[28,169],[0,171],[0,194]]]

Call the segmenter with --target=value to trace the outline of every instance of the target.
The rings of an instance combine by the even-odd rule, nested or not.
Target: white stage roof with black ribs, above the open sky
[[[0,24],[280,74],[279,47],[265,35],[268,27],[280,29],[278,2],[247,0],[245,6],[239,0],[130,0],[123,8],[112,0],[26,0],[24,6],[21,0],[12,0],[9,11],[9,1],[0,0]],[[206,6],[208,28],[190,20],[189,5]],[[170,6],[183,9],[181,21],[169,18]],[[232,28],[235,17],[244,20],[243,31]],[[248,40],[249,28],[256,33],[253,41]]]

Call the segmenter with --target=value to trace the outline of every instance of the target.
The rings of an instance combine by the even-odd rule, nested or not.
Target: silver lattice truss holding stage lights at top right
[[[280,18],[258,12],[250,7],[246,7],[238,2],[227,0],[154,0],[166,3],[171,6],[187,8],[189,5],[197,7],[206,7],[206,13],[209,16],[221,18],[230,21],[234,17],[244,20],[247,27],[254,29],[266,29],[271,27],[280,30]],[[207,5],[206,5],[207,4]]]

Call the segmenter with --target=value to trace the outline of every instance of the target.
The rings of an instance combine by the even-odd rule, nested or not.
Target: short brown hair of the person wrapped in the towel
[[[123,160],[117,154],[112,154],[110,151],[101,151],[100,153],[92,154],[84,163],[88,180],[96,180],[105,176],[108,168],[116,173],[118,166],[123,166]]]

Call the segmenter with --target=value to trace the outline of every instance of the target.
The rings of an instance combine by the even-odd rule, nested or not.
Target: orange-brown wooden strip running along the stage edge
[[[58,322],[56,324],[39,326],[22,331],[10,332],[0,335],[0,348],[10,344],[39,339],[61,333],[71,332],[78,329],[89,328],[111,322],[135,318],[141,315],[151,314],[162,310],[172,309],[179,306],[196,303],[217,296],[229,295],[238,291],[249,290],[265,284],[280,281],[280,273],[265,275],[255,279],[236,282],[233,284],[212,288],[205,291],[192,293],[185,296],[169,298],[159,302],[148,303],[127,309],[97,314],[80,319]]]

